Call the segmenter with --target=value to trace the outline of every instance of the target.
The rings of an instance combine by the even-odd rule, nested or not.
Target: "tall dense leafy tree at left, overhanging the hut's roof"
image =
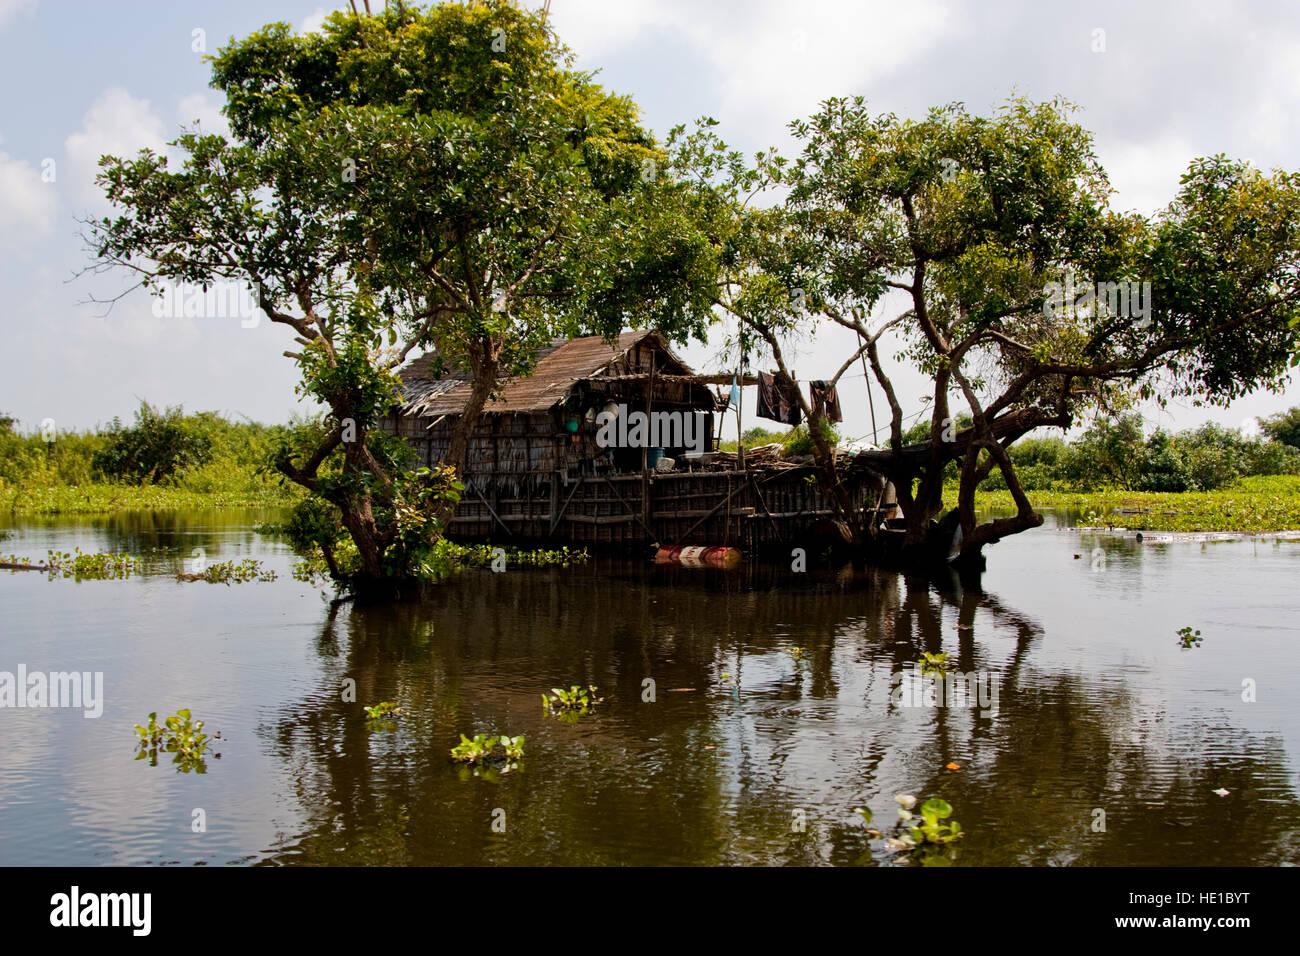
[[[698,334],[710,317],[716,247],[684,187],[543,14],[493,0],[339,12],[308,35],[273,23],[222,48],[212,85],[230,137],[185,133],[179,169],[104,157],[120,212],[88,239],[96,268],[153,291],[246,282],[292,330],[300,392],[326,412],[277,467],[316,498],[308,537],[338,578],[408,576],[454,507],[373,431],[412,354],[473,377],[446,462],[463,467],[484,405],[537,346]]]

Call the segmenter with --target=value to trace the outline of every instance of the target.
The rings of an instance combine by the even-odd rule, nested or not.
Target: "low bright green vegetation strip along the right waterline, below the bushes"
[[[1080,525],[1134,531],[1236,531],[1300,529],[1300,476],[1275,475],[1240,479],[1218,492],[1027,492],[1037,509],[1067,509]],[[956,502],[956,486],[944,499]],[[978,510],[1014,509],[1010,492],[978,492]],[[1123,514],[1130,511],[1135,514]]]

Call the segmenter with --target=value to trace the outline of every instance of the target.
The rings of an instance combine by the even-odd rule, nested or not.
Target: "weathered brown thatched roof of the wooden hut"
[[[612,345],[602,336],[586,336],[558,341],[537,352],[533,373],[506,382],[497,398],[484,407],[484,414],[545,411],[563,402],[577,382],[611,372],[614,365],[642,339],[663,352],[668,362],[656,364],[655,371],[666,376],[692,376],[690,368],[658,332],[624,332]],[[425,352],[408,363],[398,377],[402,381],[402,414],[434,418],[459,415],[469,399],[472,377],[463,371],[448,372],[434,378],[430,364],[434,352]],[[618,375],[618,372],[614,372]]]

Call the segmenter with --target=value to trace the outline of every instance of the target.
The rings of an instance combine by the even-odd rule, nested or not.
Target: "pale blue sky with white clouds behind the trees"
[[[127,418],[142,398],[263,421],[299,410],[281,328],[159,319],[139,293],[107,316],[87,304],[125,282],[73,278],[86,265],[77,220],[107,211],[92,182],[101,153],[161,150],[182,124],[222,129],[204,52],[272,21],[309,30],[334,5],[0,0],[0,411],[62,429]],[[710,114],[737,147],[790,147],[786,122],[832,95],[920,116],[953,100],[983,112],[1019,91],[1082,107],[1121,208],[1162,207],[1195,156],[1300,164],[1294,0],[551,0],[551,16],[580,65],[630,94],[660,134]],[[798,377],[831,375],[846,345],[828,334],[803,349]],[[711,367],[715,352],[686,356]],[[909,411],[926,392],[904,378]],[[841,395],[846,433],[868,433],[863,380]],[[1236,427],[1292,405],[1300,384],[1227,410],[1148,410],[1148,421]]]

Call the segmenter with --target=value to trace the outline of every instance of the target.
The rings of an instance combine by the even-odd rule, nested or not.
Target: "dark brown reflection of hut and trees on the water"
[[[1039,672],[1043,635],[994,594],[884,571],[480,572],[424,602],[344,606],[295,708],[309,717],[269,731],[312,821],[269,858],[880,864],[852,810],[888,825],[900,791],[957,808],[961,864],[1296,858],[1279,740],[1174,718],[1105,674]],[[992,671],[997,718],[892,705],[923,650]],[[365,731],[344,678],[360,702],[400,701],[402,730]],[[572,683],[607,704],[549,719],[540,695]],[[447,760],[459,732],[524,734],[523,770],[465,779]]]

